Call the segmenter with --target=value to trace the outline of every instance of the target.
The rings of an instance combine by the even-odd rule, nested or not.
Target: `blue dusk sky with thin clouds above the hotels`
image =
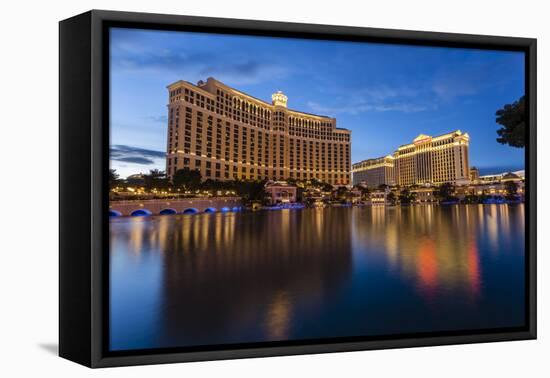
[[[111,30],[111,168],[165,169],[168,90],[214,77],[352,130],[352,162],[392,153],[418,134],[470,135],[482,174],[524,168],[523,149],[496,142],[495,111],[524,94],[519,52]]]

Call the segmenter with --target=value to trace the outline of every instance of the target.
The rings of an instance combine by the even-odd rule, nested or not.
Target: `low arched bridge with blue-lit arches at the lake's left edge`
[[[153,199],[109,202],[109,216],[198,214],[239,211],[239,197]]]

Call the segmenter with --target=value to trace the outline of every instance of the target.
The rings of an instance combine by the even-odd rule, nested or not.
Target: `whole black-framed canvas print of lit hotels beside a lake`
[[[536,40],[60,23],[60,355],[536,337]]]

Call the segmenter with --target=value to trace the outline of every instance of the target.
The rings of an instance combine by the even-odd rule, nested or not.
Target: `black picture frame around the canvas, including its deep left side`
[[[523,51],[527,326],[479,332],[108,352],[109,27]],[[59,354],[88,367],[536,338],[536,39],[92,10],[63,20],[59,49]]]

